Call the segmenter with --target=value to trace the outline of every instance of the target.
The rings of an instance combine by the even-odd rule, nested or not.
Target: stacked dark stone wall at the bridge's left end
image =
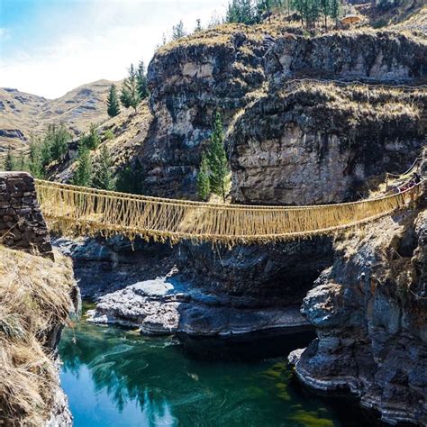
[[[0,172],[0,243],[53,257],[34,180],[26,172]]]

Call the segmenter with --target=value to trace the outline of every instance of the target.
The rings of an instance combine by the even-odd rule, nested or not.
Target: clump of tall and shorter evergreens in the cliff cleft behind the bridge
[[[230,168],[224,150],[223,119],[221,114],[217,112],[214,117],[211,141],[206,154],[202,156],[197,176],[199,196],[206,200],[209,193],[212,192],[215,195],[222,196],[225,202],[229,174]],[[209,185],[207,185],[207,181]]]

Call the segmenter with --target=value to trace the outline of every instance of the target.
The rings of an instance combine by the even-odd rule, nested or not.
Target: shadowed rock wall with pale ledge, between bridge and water
[[[228,250],[183,242],[55,242],[74,259],[95,323],[142,333],[227,335],[306,327],[299,304],[332,261],[328,238]],[[306,261],[298,262],[304,254]],[[161,277],[159,277],[161,275]],[[157,277],[157,278],[156,278]]]

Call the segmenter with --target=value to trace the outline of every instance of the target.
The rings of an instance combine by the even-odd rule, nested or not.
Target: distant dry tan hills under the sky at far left
[[[112,83],[98,80],[53,100],[0,88],[0,154],[9,148],[27,147],[31,133],[43,132],[50,123],[65,123],[77,135],[90,123],[104,122],[108,119],[105,100]]]

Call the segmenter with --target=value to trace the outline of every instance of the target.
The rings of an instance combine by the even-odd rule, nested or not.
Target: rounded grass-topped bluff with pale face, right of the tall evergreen
[[[310,82],[270,90],[229,135],[232,198],[252,204],[360,198],[385,171],[413,163],[423,145],[426,105],[422,91]]]

